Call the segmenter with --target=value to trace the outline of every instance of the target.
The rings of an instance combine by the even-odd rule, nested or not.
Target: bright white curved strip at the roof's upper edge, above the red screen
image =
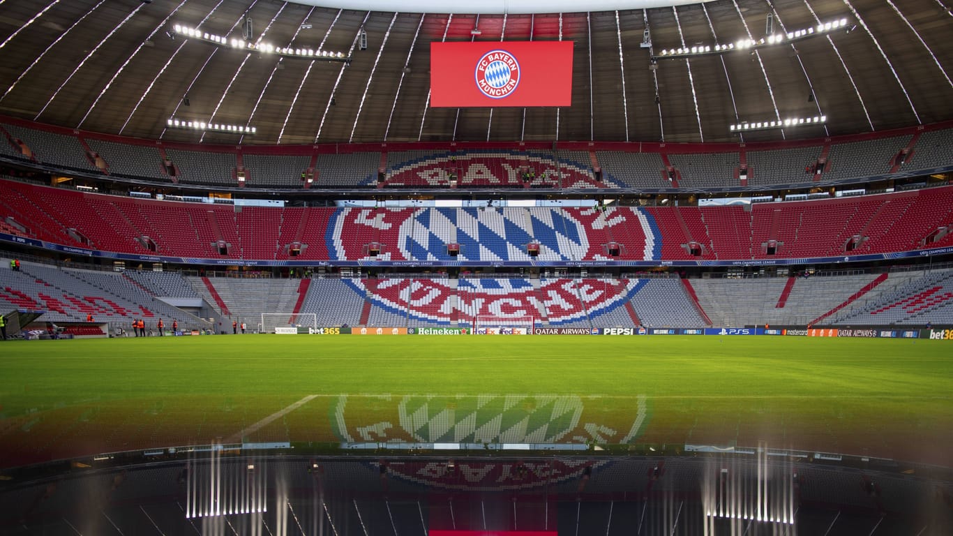
[[[712,0],[286,0],[294,4],[360,11],[402,13],[520,14],[578,13],[586,11],[642,10],[702,4]],[[448,10],[448,8],[453,10]],[[580,9],[580,8],[585,9]]]

